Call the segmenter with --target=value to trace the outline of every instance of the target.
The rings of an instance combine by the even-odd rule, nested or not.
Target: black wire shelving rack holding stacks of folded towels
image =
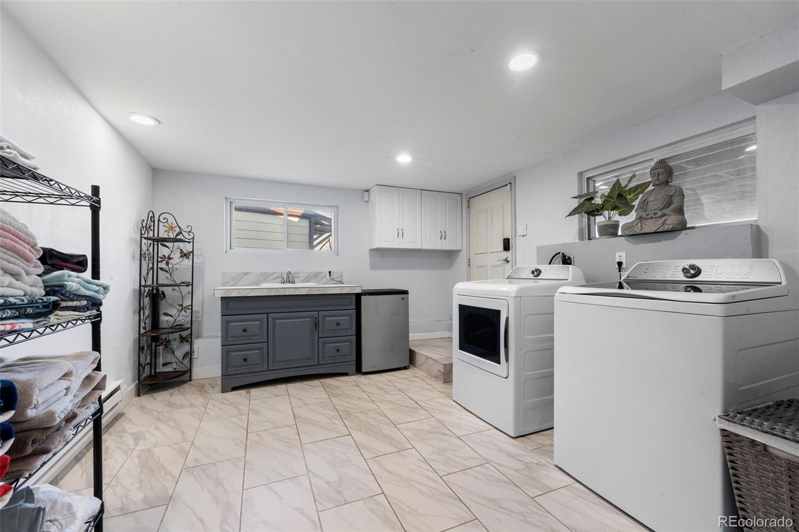
[[[60,181],[46,177],[41,173],[28,169],[23,165],[0,156],[0,202],[30,203],[47,205],[66,205],[70,207],[88,207],[91,214],[91,265],[92,279],[100,280],[100,187],[92,185],[91,193],[86,194]],[[29,339],[66,331],[78,325],[91,324],[92,351],[100,353],[102,313],[95,312],[89,316],[81,316],[72,320],[62,320],[41,327],[23,329],[0,335],[0,348],[10,347]],[[97,361],[95,370],[101,370],[101,359]],[[25,484],[37,474],[42,467],[50,463],[68,443],[81,435],[89,426],[92,427],[93,449],[93,491],[94,496],[102,501],[102,400],[97,409],[74,427],[74,431],[62,447],[59,447],[50,458],[46,459],[36,470],[14,482],[14,490]],[[102,515],[104,504],[101,503],[97,514],[85,523],[85,532],[98,530],[102,532]]]

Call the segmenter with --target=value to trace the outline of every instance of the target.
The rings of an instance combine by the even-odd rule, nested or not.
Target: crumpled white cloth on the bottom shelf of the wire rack
[[[100,499],[89,495],[67,493],[50,484],[31,486],[36,503],[45,506],[43,532],[83,530],[84,523],[100,510]]]

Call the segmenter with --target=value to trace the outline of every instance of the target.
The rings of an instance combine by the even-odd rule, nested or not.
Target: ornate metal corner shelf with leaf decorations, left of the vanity
[[[194,233],[170,212],[141,220],[137,395],[192,379]]]

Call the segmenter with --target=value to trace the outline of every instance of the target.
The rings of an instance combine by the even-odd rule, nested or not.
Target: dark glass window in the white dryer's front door
[[[458,345],[461,351],[498,366],[502,363],[502,312],[496,308],[458,305]]]

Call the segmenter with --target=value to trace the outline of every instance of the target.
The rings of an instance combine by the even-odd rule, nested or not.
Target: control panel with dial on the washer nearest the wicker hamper
[[[705,283],[781,284],[780,268],[771,259],[658,260],[639,262],[625,280]]]

